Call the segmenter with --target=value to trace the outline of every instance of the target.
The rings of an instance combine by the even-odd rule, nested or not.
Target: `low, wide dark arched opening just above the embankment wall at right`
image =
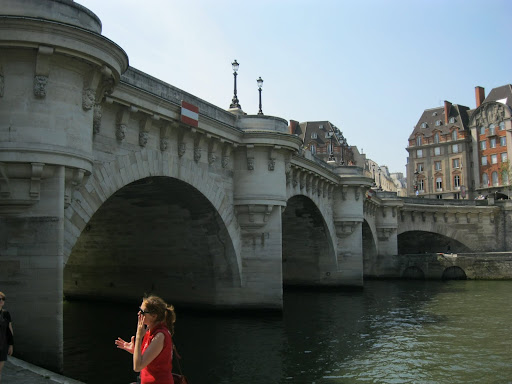
[[[471,249],[460,241],[439,233],[408,231],[398,235],[398,254],[462,253]]]

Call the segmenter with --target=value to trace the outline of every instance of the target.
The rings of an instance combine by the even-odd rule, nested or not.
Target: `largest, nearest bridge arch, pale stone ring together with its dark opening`
[[[65,295],[214,304],[217,288],[240,286],[239,229],[223,186],[186,159],[128,157],[97,164],[66,210]]]

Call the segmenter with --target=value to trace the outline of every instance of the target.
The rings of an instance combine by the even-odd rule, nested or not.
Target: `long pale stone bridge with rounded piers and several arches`
[[[18,356],[61,369],[64,297],[279,310],[283,285],[362,286],[428,234],[510,250],[508,206],[372,192],[286,120],[131,68],[92,12],[41,1],[0,9],[0,289]]]

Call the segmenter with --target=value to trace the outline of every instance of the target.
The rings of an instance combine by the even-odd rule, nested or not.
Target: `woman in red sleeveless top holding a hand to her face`
[[[174,307],[157,296],[142,300],[137,334],[130,342],[120,337],[117,348],[133,354],[133,370],[140,372],[141,384],[174,384],[172,379],[172,335]]]

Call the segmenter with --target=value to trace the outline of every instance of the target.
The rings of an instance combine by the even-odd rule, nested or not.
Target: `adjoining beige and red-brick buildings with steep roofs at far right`
[[[444,102],[427,109],[406,148],[407,195],[431,199],[508,197],[511,85],[485,98],[475,88],[476,108]]]

